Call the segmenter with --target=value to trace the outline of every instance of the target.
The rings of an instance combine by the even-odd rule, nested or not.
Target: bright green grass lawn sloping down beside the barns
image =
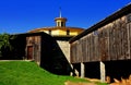
[[[51,74],[35,62],[0,61],[0,85],[64,85],[66,81],[87,82],[73,76]]]

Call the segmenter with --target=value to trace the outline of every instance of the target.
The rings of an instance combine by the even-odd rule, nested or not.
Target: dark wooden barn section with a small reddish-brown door
[[[22,47],[20,48],[21,52],[23,51],[20,56],[21,59],[35,61],[41,68],[55,74],[70,74],[72,69],[56,40],[58,37],[52,37],[44,32],[25,33],[16,36],[14,42],[20,44],[20,47]],[[70,37],[62,39],[68,38]]]

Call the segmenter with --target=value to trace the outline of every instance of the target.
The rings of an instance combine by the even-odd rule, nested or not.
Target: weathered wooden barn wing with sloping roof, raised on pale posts
[[[81,77],[105,82],[131,74],[131,3],[70,39],[71,63]]]

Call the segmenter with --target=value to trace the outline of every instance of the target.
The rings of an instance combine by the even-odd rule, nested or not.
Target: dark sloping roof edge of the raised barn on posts
[[[73,37],[70,39],[70,44],[80,39],[81,37],[87,35],[88,33],[98,29],[99,27],[115,21],[116,19],[119,19],[128,13],[131,12],[131,3],[129,3],[128,5],[123,7],[122,9],[118,10],[117,12],[112,13],[111,15],[107,16],[106,19],[104,19],[103,21],[96,23],[95,25],[91,26],[90,28],[85,29],[84,32],[82,32],[80,35]]]

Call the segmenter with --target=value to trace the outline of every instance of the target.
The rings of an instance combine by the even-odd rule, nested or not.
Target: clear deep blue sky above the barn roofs
[[[55,17],[68,19],[67,26],[88,28],[131,0],[1,0],[0,33],[26,33],[55,26]]]

